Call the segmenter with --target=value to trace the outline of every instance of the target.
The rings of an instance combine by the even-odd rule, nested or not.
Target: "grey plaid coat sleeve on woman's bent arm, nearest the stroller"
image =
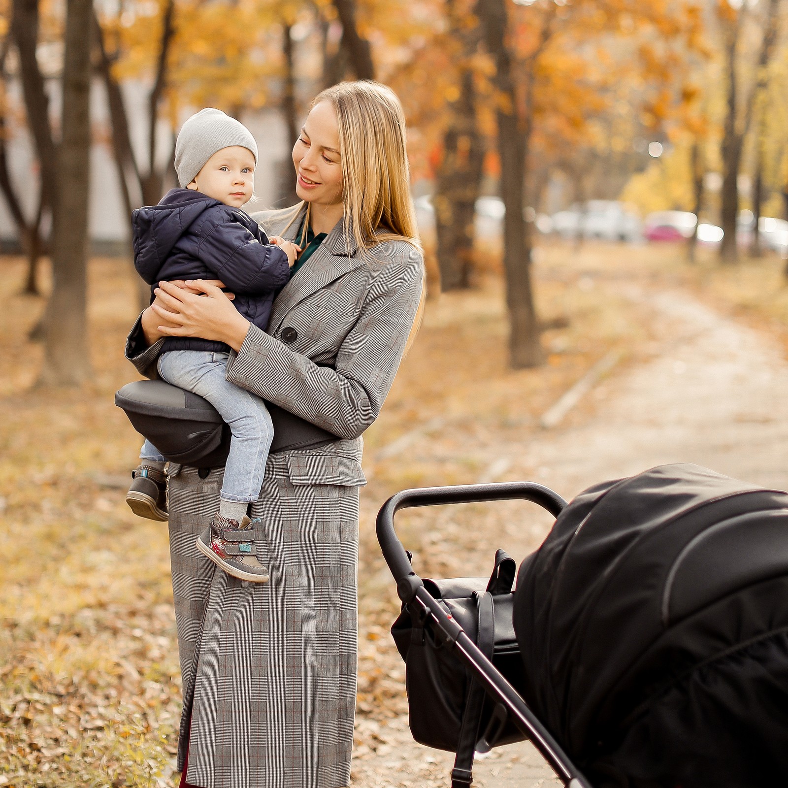
[[[400,366],[422,295],[424,263],[415,250],[381,266],[336,369],[318,366],[251,326],[227,380],[343,438],[374,422]]]

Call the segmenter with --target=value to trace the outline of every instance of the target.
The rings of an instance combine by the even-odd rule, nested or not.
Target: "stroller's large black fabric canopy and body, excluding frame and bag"
[[[788,495],[608,481],[519,570],[523,693],[595,786],[788,784]]]

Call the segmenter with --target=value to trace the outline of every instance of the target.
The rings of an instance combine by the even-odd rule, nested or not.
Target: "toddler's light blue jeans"
[[[227,358],[226,353],[169,351],[159,356],[158,374],[173,386],[205,397],[227,422],[232,440],[221,497],[250,504],[260,495],[273,440],[273,424],[266,403],[225,380]],[[139,458],[166,462],[150,440],[143,444]]]

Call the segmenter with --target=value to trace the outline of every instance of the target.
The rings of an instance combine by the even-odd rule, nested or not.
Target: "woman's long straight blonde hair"
[[[404,240],[421,250],[411,198],[405,113],[390,87],[378,82],[340,82],[315,96],[336,112],[342,157],[344,232],[362,256],[385,240]]]

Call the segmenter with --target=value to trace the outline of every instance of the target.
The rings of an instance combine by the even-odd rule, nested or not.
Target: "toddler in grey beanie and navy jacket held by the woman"
[[[175,145],[183,188],[134,211],[132,241],[134,266],[151,292],[162,280],[221,279],[236,294],[240,314],[265,330],[273,296],[288,281],[300,249],[278,237],[269,243],[240,210],[251,199],[256,164],[257,144],[243,124],[220,110],[192,115]],[[228,354],[221,342],[168,337],[158,373],[205,397],[232,431],[219,511],[197,547],[233,577],[266,582],[247,508],[260,493],[273,426],[258,396],[225,380]],[[166,520],[166,460],[148,440],[139,459],[126,501],[137,515]]]

